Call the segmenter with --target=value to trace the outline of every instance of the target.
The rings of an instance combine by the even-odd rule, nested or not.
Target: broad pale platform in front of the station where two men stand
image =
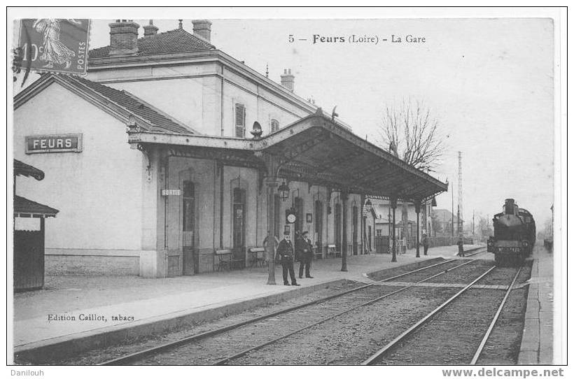
[[[465,245],[465,250],[478,245]],[[284,286],[281,266],[276,285],[267,285],[267,267],[204,273],[196,276],[145,279],[139,276],[47,276],[45,289],[14,294],[15,354],[89,350],[125,338],[162,332],[182,324],[213,320],[255,306],[309,294],[343,280],[370,282],[365,273],[456,255],[457,246],[415,250],[398,255],[351,255],[348,271],[341,258],[316,259],[314,278],[297,278],[300,287]],[[295,264],[297,275],[299,264]]]

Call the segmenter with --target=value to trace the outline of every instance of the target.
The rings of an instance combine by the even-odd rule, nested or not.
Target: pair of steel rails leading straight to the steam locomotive
[[[409,338],[409,336],[412,336],[412,334],[414,334],[416,331],[421,329],[423,327],[423,325],[430,322],[430,320],[432,320],[433,317],[435,317],[442,310],[447,308],[447,306],[452,305],[451,303],[453,303],[456,299],[459,299],[469,289],[471,289],[473,286],[475,286],[480,280],[482,280],[484,277],[489,275],[489,273],[491,273],[491,271],[493,271],[494,269],[496,269],[496,266],[491,266],[491,268],[489,268],[484,273],[482,273],[478,278],[473,280],[472,283],[469,283],[463,289],[461,289],[459,292],[454,294],[454,296],[451,296],[449,299],[447,299],[447,301],[444,301],[444,303],[440,304],[440,306],[437,306],[437,308],[432,310],[426,316],[422,317],[419,321],[417,321],[411,327],[409,327],[408,329],[403,331],[402,334],[400,334],[399,336],[394,338],[393,341],[387,343],[380,350],[377,350],[377,352],[375,352],[369,358],[365,359],[365,361],[363,361],[361,364],[363,364],[363,365],[379,364],[383,359],[385,359],[395,349],[402,348],[402,349],[408,350],[408,347],[405,347],[405,346],[408,345],[407,339]],[[516,283],[516,280],[517,280],[520,272],[521,272],[521,268],[519,268],[517,270],[517,272],[514,274],[514,278],[512,278],[512,282],[510,283],[510,285],[507,285],[505,295],[504,295],[502,301],[500,301],[500,303],[498,305],[498,309],[496,310],[496,313],[493,315],[488,329],[486,329],[486,331],[482,335],[482,339],[480,340],[480,343],[479,343],[478,347],[476,348],[475,353],[472,356],[472,359],[470,359],[470,362],[468,362],[468,364],[476,364],[477,363],[477,360],[479,359],[479,357],[482,353],[482,350],[484,349],[484,346],[486,345],[486,341],[488,341],[488,338],[491,335],[491,332],[494,328],[494,325],[496,324],[496,321],[498,320],[498,317],[500,316],[500,313],[502,312],[502,309],[503,309],[503,307],[504,307],[504,305],[508,299],[510,292],[512,291],[512,289],[514,287],[514,283]],[[421,337],[421,339],[424,339],[424,338]]]

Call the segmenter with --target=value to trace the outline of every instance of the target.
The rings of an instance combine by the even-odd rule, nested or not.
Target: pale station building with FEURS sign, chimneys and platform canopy
[[[369,196],[418,214],[447,190],[297,96],[288,69],[275,83],[218,50],[211,22],[138,30],[112,22],[86,78],[44,74],[14,97],[14,157],[46,173],[18,190],[59,210],[48,271],[194,275],[284,231],[360,255]]]

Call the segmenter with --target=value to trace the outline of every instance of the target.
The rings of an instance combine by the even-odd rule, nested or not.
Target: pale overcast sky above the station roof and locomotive
[[[193,15],[192,15],[193,17]],[[79,18],[79,17],[78,17]],[[109,45],[111,20],[94,20],[90,48]],[[148,20],[136,20],[141,26]],[[454,184],[463,157],[463,210],[498,213],[513,197],[539,225],[553,199],[553,22],[548,18],[218,20],[211,42],[252,69],[280,81],[295,75],[295,92],[337,113],[353,132],[377,140],[384,106],[424,101],[448,135],[433,176]],[[161,31],[177,20],[154,20]],[[190,19],[184,29],[192,30]],[[140,28],[140,34],[143,29]],[[293,34],[294,43],[288,41]],[[379,44],[312,43],[320,36],[377,36]],[[391,35],[402,43],[391,43]],[[425,43],[407,43],[407,35]],[[306,38],[307,41],[298,41]],[[387,38],[388,41],[381,41]],[[437,197],[451,208],[451,193]]]

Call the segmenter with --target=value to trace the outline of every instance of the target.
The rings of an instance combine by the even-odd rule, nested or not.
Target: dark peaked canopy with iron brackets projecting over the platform
[[[140,150],[163,146],[172,156],[256,167],[267,176],[325,185],[333,191],[405,201],[426,200],[447,191],[447,184],[356,136],[324,115],[321,108],[279,131],[253,139],[151,133],[137,126],[128,134],[128,142]]]

